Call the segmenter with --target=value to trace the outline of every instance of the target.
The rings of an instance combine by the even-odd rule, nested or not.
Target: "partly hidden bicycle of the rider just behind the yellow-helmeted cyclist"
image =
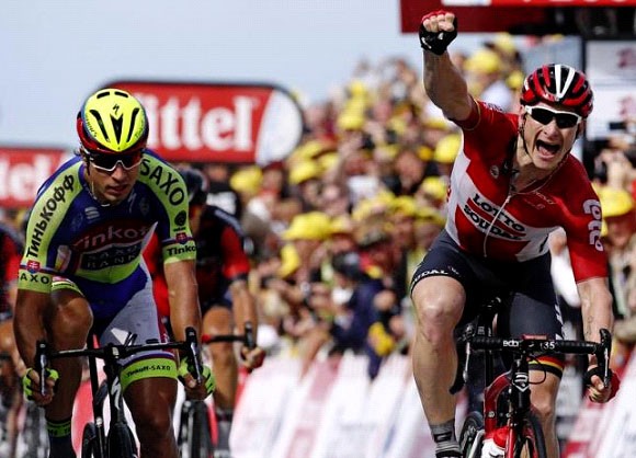
[[[248,348],[255,347],[252,323],[245,323],[243,334],[218,334],[201,336],[202,345],[219,342],[242,342]],[[177,445],[181,458],[213,458],[211,412],[205,401],[185,399],[181,405]]]

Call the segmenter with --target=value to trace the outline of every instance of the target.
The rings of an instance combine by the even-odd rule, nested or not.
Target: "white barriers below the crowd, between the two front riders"
[[[365,356],[298,363],[268,358],[247,380],[230,437],[235,458],[420,458],[434,447],[410,359],[394,356],[371,381]],[[293,369],[292,369],[293,367]],[[255,404],[255,405],[254,405]]]

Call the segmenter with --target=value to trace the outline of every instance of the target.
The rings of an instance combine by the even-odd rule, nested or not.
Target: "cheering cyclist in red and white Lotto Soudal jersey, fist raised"
[[[559,337],[563,322],[549,273],[548,234],[561,227],[578,283],[587,340],[612,327],[612,297],[601,234],[601,207],[582,164],[570,154],[592,111],[584,75],[545,65],[525,79],[519,113],[474,100],[446,47],[456,19],[446,11],[422,18],[424,87],[431,101],[463,131],[448,194],[445,230],[413,275],[418,314],[413,371],[436,457],[461,457],[453,385],[456,324],[478,311],[486,290],[510,297],[498,332]],[[532,364],[532,402],[548,456],[558,457],[555,399],[564,362],[545,354]],[[590,369],[597,367],[590,359]],[[606,402],[618,379],[592,377],[589,396]]]

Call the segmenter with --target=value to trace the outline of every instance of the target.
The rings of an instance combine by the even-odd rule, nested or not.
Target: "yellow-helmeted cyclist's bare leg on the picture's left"
[[[92,320],[89,302],[77,286],[59,278],[54,280],[46,323],[53,347],[57,351],[83,347]],[[61,358],[53,360],[52,367],[59,373],[59,380],[53,401],[45,408],[50,457],[75,457],[70,421],[82,363],[79,358]]]

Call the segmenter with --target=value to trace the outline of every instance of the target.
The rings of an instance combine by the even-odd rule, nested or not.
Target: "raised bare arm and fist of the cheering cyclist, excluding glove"
[[[454,30],[454,14],[445,13],[424,20],[422,25],[429,32],[451,32]],[[448,53],[438,56],[430,51],[424,55],[424,88],[431,101],[450,119],[464,121],[470,115],[475,101],[459,70],[451,61]]]

